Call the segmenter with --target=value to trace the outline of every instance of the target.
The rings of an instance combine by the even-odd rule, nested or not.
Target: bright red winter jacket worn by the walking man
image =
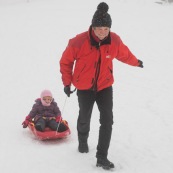
[[[60,60],[64,86],[73,84],[79,90],[100,91],[114,82],[113,59],[138,66],[138,59],[123,44],[120,37],[110,32],[98,43],[92,37],[92,28],[69,40]]]

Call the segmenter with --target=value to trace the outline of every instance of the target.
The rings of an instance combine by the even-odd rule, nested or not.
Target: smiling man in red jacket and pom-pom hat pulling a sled
[[[90,131],[90,119],[96,102],[100,111],[100,130],[97,145],[96,166],[104,169],[114,168],[107,159],[113,125],[113,59],[123,63],[142,67],[138,60],[122,42],[111,32],[112,20],[107,13],[108,5],[100,3],[93,16],[88,31],[69,40],[60,60],[60,71],[64,92],[70,97],[70,87],[77,88],[79,116],[77,131],[81,153],[89,151],[87,139]]]

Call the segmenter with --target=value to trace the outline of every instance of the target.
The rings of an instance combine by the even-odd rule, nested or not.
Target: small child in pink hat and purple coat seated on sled
[[[58,130],[58,132],[67,130],[67,126],[61,123],[61,111],[54,101],[51,91],[43,90],[41,98],[36,99],[35,102],[29,115],[22,123],[23,128],[26,128],[29,122],[34,119],[35,128],[38,131],[43,132],[45,127],[49,127],[53,131]]]

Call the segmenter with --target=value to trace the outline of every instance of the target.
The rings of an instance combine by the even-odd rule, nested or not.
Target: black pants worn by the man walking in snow
[[[79,102],[79,117],[77,131],[79,142],[87,142],[90,131],[90,120],[94,103],[100,111],[100,130],[97,145],[97,158],[107,158],[113,124],[113,94],[112,86],[99,92],[91,90],[77,91]]]

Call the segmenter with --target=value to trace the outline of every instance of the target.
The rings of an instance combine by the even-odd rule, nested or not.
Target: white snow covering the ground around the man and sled
[[[157,1],[157,3],[156,3]],[[105,0],[116,32],[144,68],[114,61],[114,126],[109,160],[120,173],[173,171],[173,6],[160,0]],[[86,31],[98,0],[0,0],[0,170],[2,173],[98,173],[99,112],[88,154],[77,151],[76,93],[66,99],[59,60],[68,40]],[[161,4],[162,3],[162,4]],[[21,123],[48,88],[72,134],[39,141]]]

